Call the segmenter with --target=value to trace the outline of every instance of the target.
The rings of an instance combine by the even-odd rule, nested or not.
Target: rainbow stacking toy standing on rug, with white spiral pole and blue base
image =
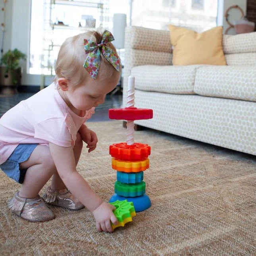
[[[135,77],[129,76],[127,107],[108,111],[110,119],[127,120],[127,142],[110,145],[112,168],[117,171],[115,194],[110,202],[127,200],[133,202],[136,212],[141,212],[151,206],[143,181],[143,171],[149,168],[150,146],[134,142],[134,120],[152,118],[153,110],[134,107],[134,85]]]

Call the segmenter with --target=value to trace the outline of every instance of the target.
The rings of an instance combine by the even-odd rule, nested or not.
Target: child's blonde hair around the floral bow
[[[60,46],[60,51],[55,64],[55,82],[58,78],[64,77],[68,79],[73,86],[77,86],[90,76],[83,67],[87,57],[84,50],[84,39],[93,40],[99,44],[102,40],[102,33],[98,31],[88,31],[74,37],[69,37],[64,41]],[[117,54],[115,47],[111,42],[109,42],[107,46]],[[119,75],[120,77],[121,62],[119,62],[118,72],[100,51],[100,68],[96,79],[104,80],[106,77],[112,77],[113,75]]]

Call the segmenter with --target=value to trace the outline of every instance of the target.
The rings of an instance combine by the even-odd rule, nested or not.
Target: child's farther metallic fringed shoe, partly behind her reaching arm
[[[48,187],[42,198],[48,204],[60,206],[69,210],[80,210],[85,207],[67,188],[52,190]]]

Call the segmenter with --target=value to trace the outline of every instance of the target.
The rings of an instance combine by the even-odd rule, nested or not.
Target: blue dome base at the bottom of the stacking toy
[[[125,196],[119,196],[118,194],[113,194],[111,196],[109,202],[115,202],[116,200],[122,201],[127,200],[128,202],[133,202],[135,212],[142,212],[151,206],[151,201],[148,197],[148,195],[142,194],[142,196],[135,196],[135,197],[125,197]]]

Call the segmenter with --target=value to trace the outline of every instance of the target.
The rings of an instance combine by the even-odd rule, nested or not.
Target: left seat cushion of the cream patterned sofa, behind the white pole
[[[194,94],[196,67],[143,65],[133,67],[131,75],[136,77],[135,89],[167,92],[174,94]]]

